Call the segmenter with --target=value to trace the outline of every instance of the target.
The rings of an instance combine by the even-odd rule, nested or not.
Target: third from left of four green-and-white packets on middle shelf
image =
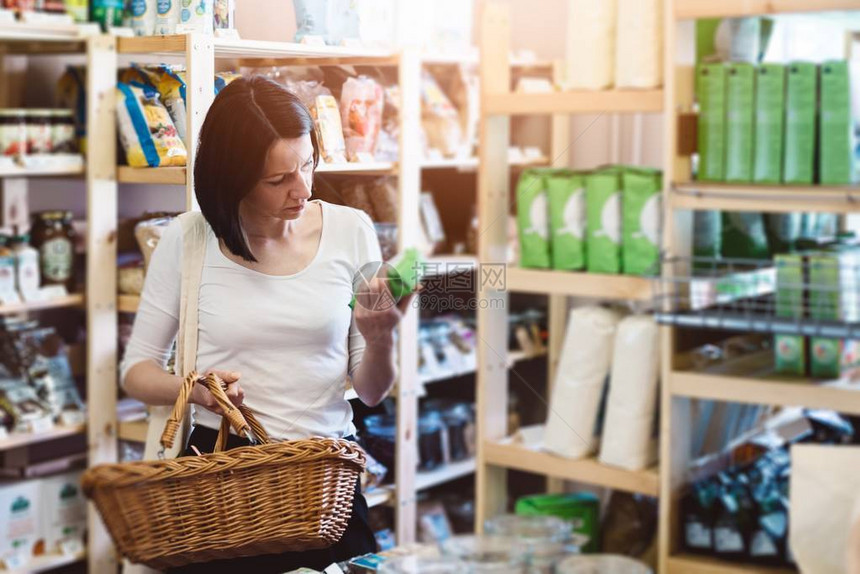
[[[585,178],[586,263],[591,273],[621,272],[622,173],[612,166]]]

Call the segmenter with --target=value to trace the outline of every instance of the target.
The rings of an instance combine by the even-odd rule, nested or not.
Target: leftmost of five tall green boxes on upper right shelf
[[[726,70],[722,64],[696,67],[699,100],[698,150],[701,181],[725,179]]]

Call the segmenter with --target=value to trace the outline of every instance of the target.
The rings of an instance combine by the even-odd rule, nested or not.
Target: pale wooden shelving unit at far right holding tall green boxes
[[[721,210],[764,213],[819,212],[849,214],[860,211],[857,186],[795,186],[723,184],[693,180],[691,150],[680,145],[679,116],[694,105],[693,51],[695,29],[683,20],[746,17],[783,13],[860,10],[856,0],[666,0],[666,66],[664,91],[664,245],[667,257],[690,255],[692,218],[690,211]],[[840,40],[841,41],[841,40]],[[672,281],[671,265],[664,278]],[[684,370],[683,355],[677,352],[675,327],[662,329],[659,571],[669,574],[776,574],[792,569],[721,561],[686,554],[680,544],[680,499],[688,480],[689,437],[694,421],[692,400],[760,404],[777,407],[801,406],[833,409],[854,414],[860,409],[860,386],[849,382],[817,382],[773,375],[767,368],[738,372],[705,373]],[[760,366],[760,361],[755,361]],[[768,362],[770,364],[770,362]],[[745,373],[751,373],[746,374]]]

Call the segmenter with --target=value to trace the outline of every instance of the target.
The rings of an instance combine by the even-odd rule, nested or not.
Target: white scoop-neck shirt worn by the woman
[[[355,432],[344,399],[347,373],[364,352],[352,321],[353,277],[381,261],[373,223],[363,211],[322,206],[319,248],[311,263],[285,276],[228,259],[210,228],[200,283],[197,370],[241,373],[245,404],[272,438],[343,437]],[[182,229],[165,230],[146,274],[134,330],[121,366],[164,366],[179,328]],[[217,429],[220,417],[193,407],[195,424]]]

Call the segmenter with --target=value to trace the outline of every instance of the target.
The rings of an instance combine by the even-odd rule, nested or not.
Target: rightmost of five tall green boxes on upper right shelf
[[[823,184],[848,184],[853,177],[851,84],[848,62],[821,64],[818,169]]]

